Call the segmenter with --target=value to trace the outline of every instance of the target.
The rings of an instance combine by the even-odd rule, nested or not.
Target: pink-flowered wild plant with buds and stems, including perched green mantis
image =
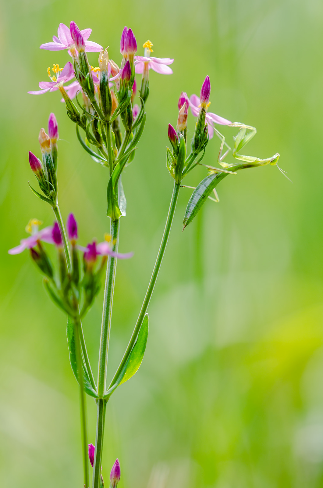
[[[174,187],[161,245],[129,344],[114,376],[107,381],[117,261],[132,257],[131,252],[121,254],[118,251],[120,219],[126,215],[126,198],[121,183],[122,171],[134,160],[145,127],[149,70],[170,75],[170,65],[174,60],[151,56],[151,41],[143,43],[143,56],[136,55],[137,41],[134,33],[131,28],[124,27],[121,34],[119,67],[115,61],[109,59],[107,49],[103,49],[96,42],[88,41],[90,34],[91,29],[80,30],[74,21],[70,23],[69,28],[60,24],[58,36],[53,36],[53,42],[41,44],[40,48],[50,51],[67,49],[71,61],[67,61],[63,68],[58,64],[54,64],[52,69],[48,68],[50,81],[40,81],[40,90],[29,93],[40,95],[60,91],[62,101],[66,104],[67,115],[75,124],[76,136],[81,147],[89,155],[89,160],[101,164],[108,173],[106,214],[110,222],[109,233],[105,234],[101,243],[93,241],[82,246],[78,241],[78,224],[75,216],[68,215],[66,227],[63,223],[57,179],[59,131],[56,117],[51,113],[48,134],[44,129],[41,129],[39,134],[41,158],[29,152],[29,163],[39,188],[35,189],[34,184],[30,187],[40,200],[52,206],[55,222],[52,226],[40,229],[41,222],[32,219],[26,227],[31,234],[30,237],[22,239],[18,246],[9,250],[9,253],[17,254],[29,249],[31,259],[43,275],[48,295],[67,315],[70,363],[80,386],[83,483],[84,487],[90,486],[90,461],[93,467],[92,487],[99,488],[104,486],[101,464],[106,404],[118,386],[129,380],[141,365],[148,335],[147,309],[162,264],[180,188],[184,186],[183,179],[196,166],[202,164],[207,144],[214,134],[218,136],[221,141],[218,166],[206,166],[207,175],[196,188],[193,188],[183,219],[184,229],[192,222],[206,199],[211,198],[212,192],[215,200],[219,201],[215,188],[226,176],[236,175],[238,170],[245,168],[276,165],[279,154],[260,159],[240,153],[254,137],[256,129],[240,122],[230,122],[208,111],[211,93],[208,76],[202,83],[199,97],[195,94],[188,97],[185,92],[181,93],[176,129],[171,124],[168,126],[170,147],[166,149],[166,167],[174,180]],[[100,53],[98,67],[89,64],[87,52]],[[141,75],[138,104],[134,103],[137,94],[136,74]],[[71,83],[66,85],[70,81]],[[192,115],[197,117],[191,141],[187,140],[189,109]],[[231,149],[215,127],[216,124],[239,129],[233,138],[233,163],[224,161]],[[57,265],[51,261],[45,244],[56,247]],[[98,295],[104,274],[98,376],[95,378],[86,349],[82,319]],[[97,404],[95,446],[88,445],[85,395],[91,396]],[[111,470],[111,487],[117,486],[120,475],[120,464],[117,459]]]

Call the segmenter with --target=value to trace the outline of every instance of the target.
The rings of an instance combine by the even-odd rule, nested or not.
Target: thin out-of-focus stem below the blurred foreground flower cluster
[[[84,474],[84,486],[89,486],[89,467],[88,467],[88,454],[87,454],[87,428],[86,428],[86,398],[83,388],[83,371],[82,371],[82,357],[80,347],[80,328],[81,319],[74,320],[74,337],[75,337],[75,352],[76,352],[76,365],[78,369],[79,384],[80,384],[80,409],[81,409],[81,438],[82,438],[82,456],[83,456],[83,474]]]

